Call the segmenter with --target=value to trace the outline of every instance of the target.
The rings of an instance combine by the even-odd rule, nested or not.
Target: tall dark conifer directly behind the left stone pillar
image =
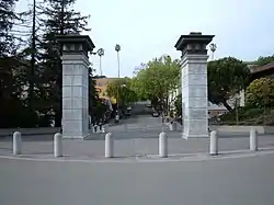
[[[58,46],[56,35],[89,31],[87,29],[89,16],[82,16],[80,12],[75,11],[75,2],[76,0],[45,0],[44,4],[44,77],[52,89],[49,95],[56,126],[61,125],[61,48]]]

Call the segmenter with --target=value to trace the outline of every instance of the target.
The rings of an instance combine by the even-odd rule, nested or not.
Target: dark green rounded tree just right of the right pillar
[[[222,104],[228,111],[228,100],[233,98],[250,83],[249,68],[237,58],[226,57],[207,65],[208,100],[214,104]]]

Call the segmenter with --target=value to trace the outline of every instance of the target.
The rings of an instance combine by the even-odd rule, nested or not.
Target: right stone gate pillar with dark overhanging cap
[[[208,137],[207,49],[214,35],[182,35],[175,48],[182,52],[183,137]]]

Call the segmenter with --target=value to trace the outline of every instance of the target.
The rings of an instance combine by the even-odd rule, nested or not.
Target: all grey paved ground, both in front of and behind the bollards
[[[145,125],[149,127],[142,130]],[[116,138],[116,156],[158,152],[161,124],[157,119],[129,119],[128,127],[127,133],[122,132],[124,125],[111,128]],[[184,140],[180,132],[168,134],[172,153],[208,151],[208,139]],[[1,205],[274,204],[274,153],[205,161],[137,162],[128,158],[119,162],[115,159],[113,162],[57,162],[39,161],[43,157],[38,157],[53,153],[53,136],[26,136],[23,140],[23,153],[36,161],[0,157]],[[90,140],[64,144],[65,155],[76,159],[98,159],[104,153],[100,134]],[[259,145],[273,147],[274,137],[260,136]],[[224,134],[219,148],[224,151],[248,149],[248,135]],[[10,155],[10,139],[0,140],[0,156]]]

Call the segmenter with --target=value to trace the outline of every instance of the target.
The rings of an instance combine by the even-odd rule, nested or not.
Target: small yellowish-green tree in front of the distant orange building
[[[109,83],[106,93],[107,96],[115,98],[122,109],[138,100],[129,78],[121,78]]]

